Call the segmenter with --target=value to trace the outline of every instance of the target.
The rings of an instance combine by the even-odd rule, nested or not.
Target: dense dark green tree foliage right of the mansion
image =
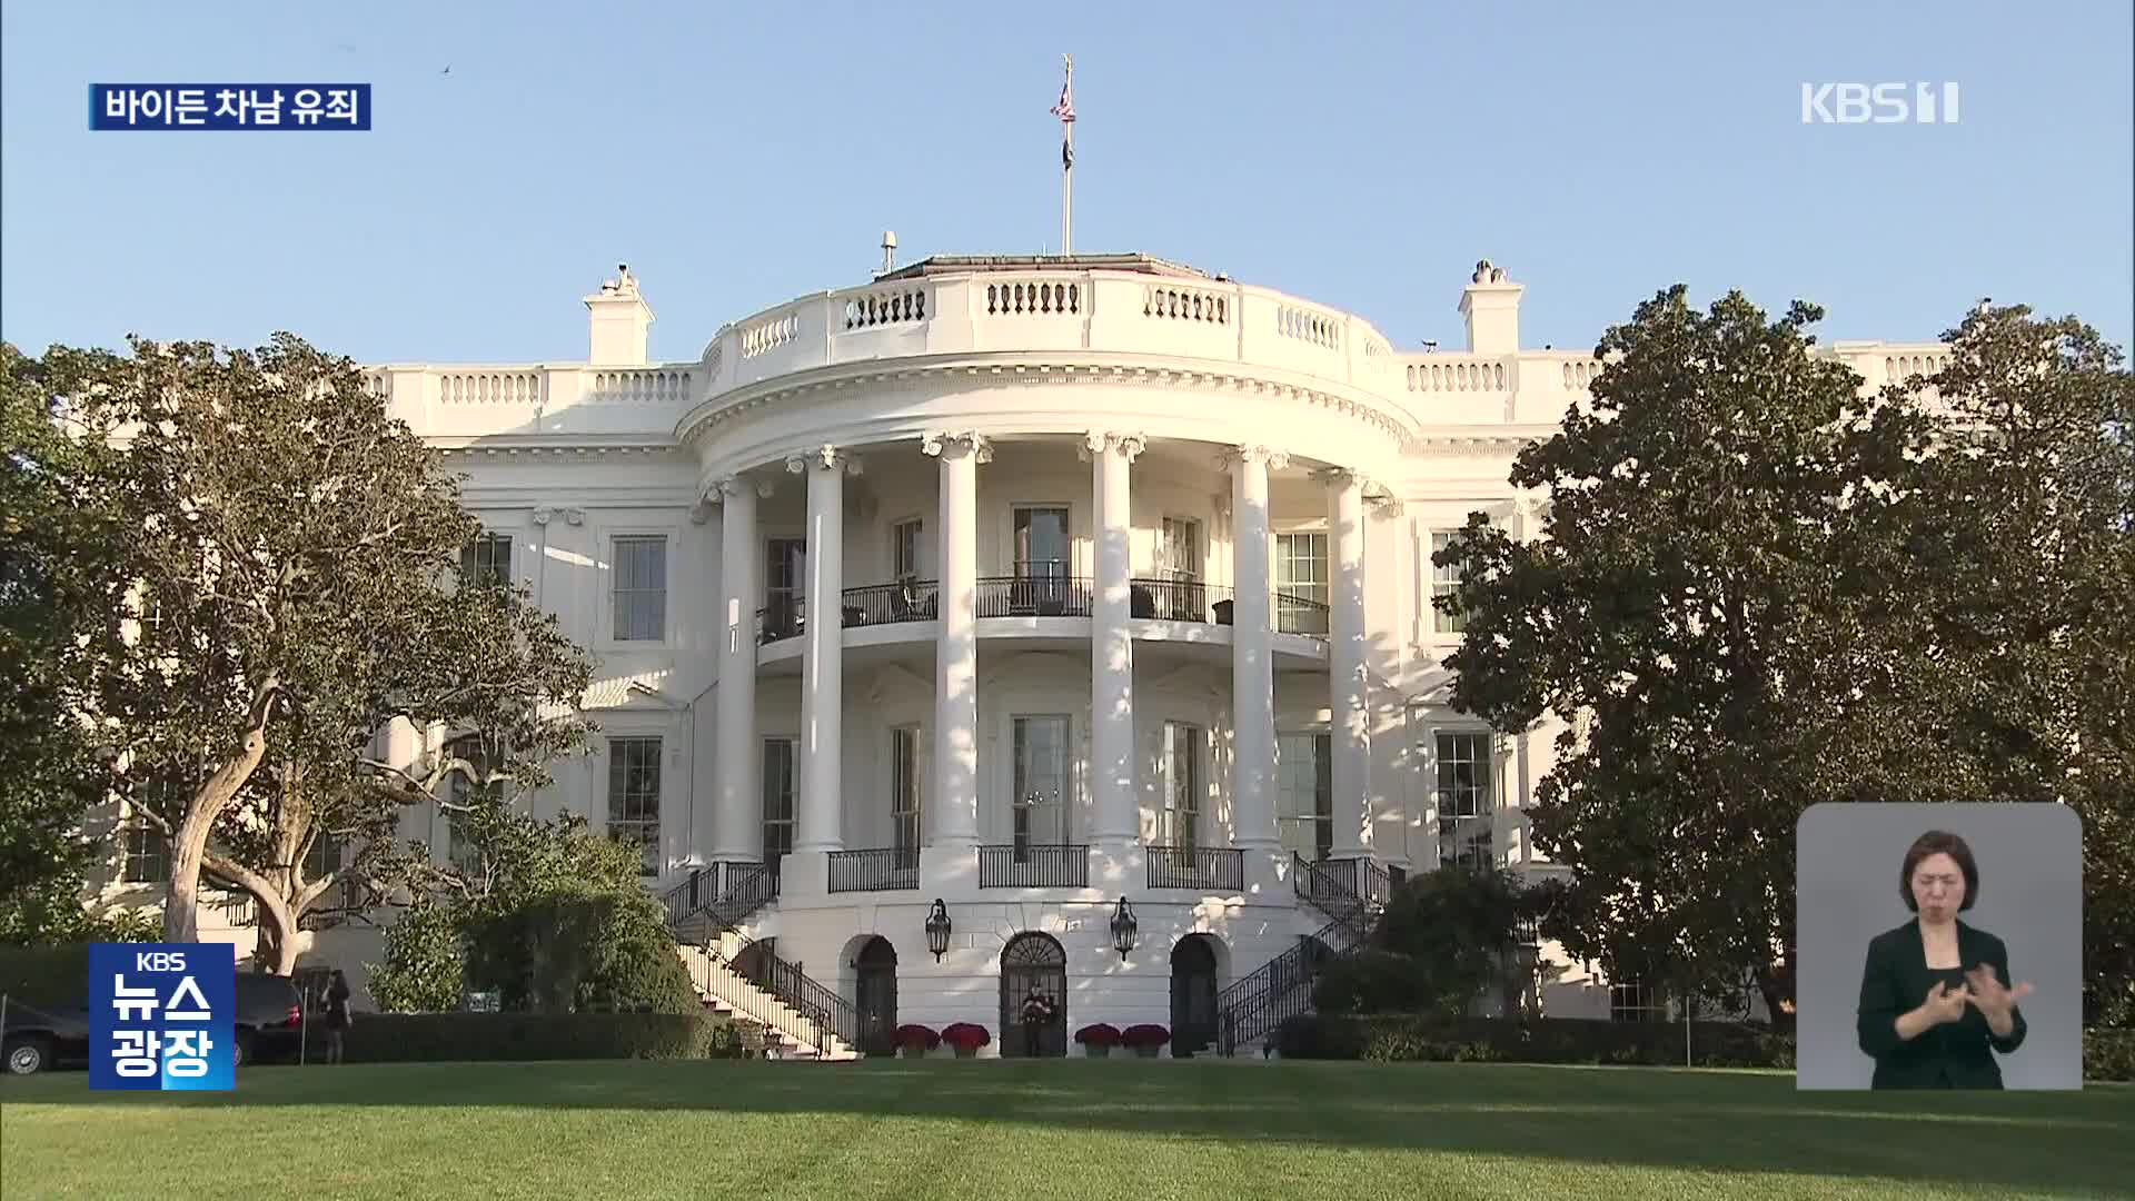
[[[2129,829],[2118,355],[1996,310],[1947,336],[1943,402],[1917,378],[1862,400],[1810,357],[1819,318],[1642,303],[1512,470],[1550,496],[1546,541],[1477,515],[1437,556],[1469,566],[1454,703],[1567,722],[1531,814],[1571,868],[1567,949],[1695,987],[1755,972],[1778,1021],[1808,806],[2067,797]]]

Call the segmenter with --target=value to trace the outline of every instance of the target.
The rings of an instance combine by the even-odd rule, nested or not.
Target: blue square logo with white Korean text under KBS
[[[90,947],[90,1088],[237,1088],[237,947]]]

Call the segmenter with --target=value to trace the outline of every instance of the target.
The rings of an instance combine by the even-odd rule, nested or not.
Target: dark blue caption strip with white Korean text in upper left
[[[92,130],[367,130],[369,83],[90,83]]]

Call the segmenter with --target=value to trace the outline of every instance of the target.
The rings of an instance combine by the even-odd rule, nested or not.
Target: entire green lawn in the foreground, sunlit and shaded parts
[[[0,1081],[32,1197],[2126,1197],[2135,1088],[1798,1094],[1791,1073],[927,1060]]]

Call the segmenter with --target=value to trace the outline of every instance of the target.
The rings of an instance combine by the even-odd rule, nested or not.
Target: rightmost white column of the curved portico
[[[1366,827],[1371,791],[1371,712],[1364,682],[1364,477],[1328,470],[1328,575],[1334,596],[1328,607],[1328,739],[1334,754],[1334,846],[1337,859],[1371,853]]]

